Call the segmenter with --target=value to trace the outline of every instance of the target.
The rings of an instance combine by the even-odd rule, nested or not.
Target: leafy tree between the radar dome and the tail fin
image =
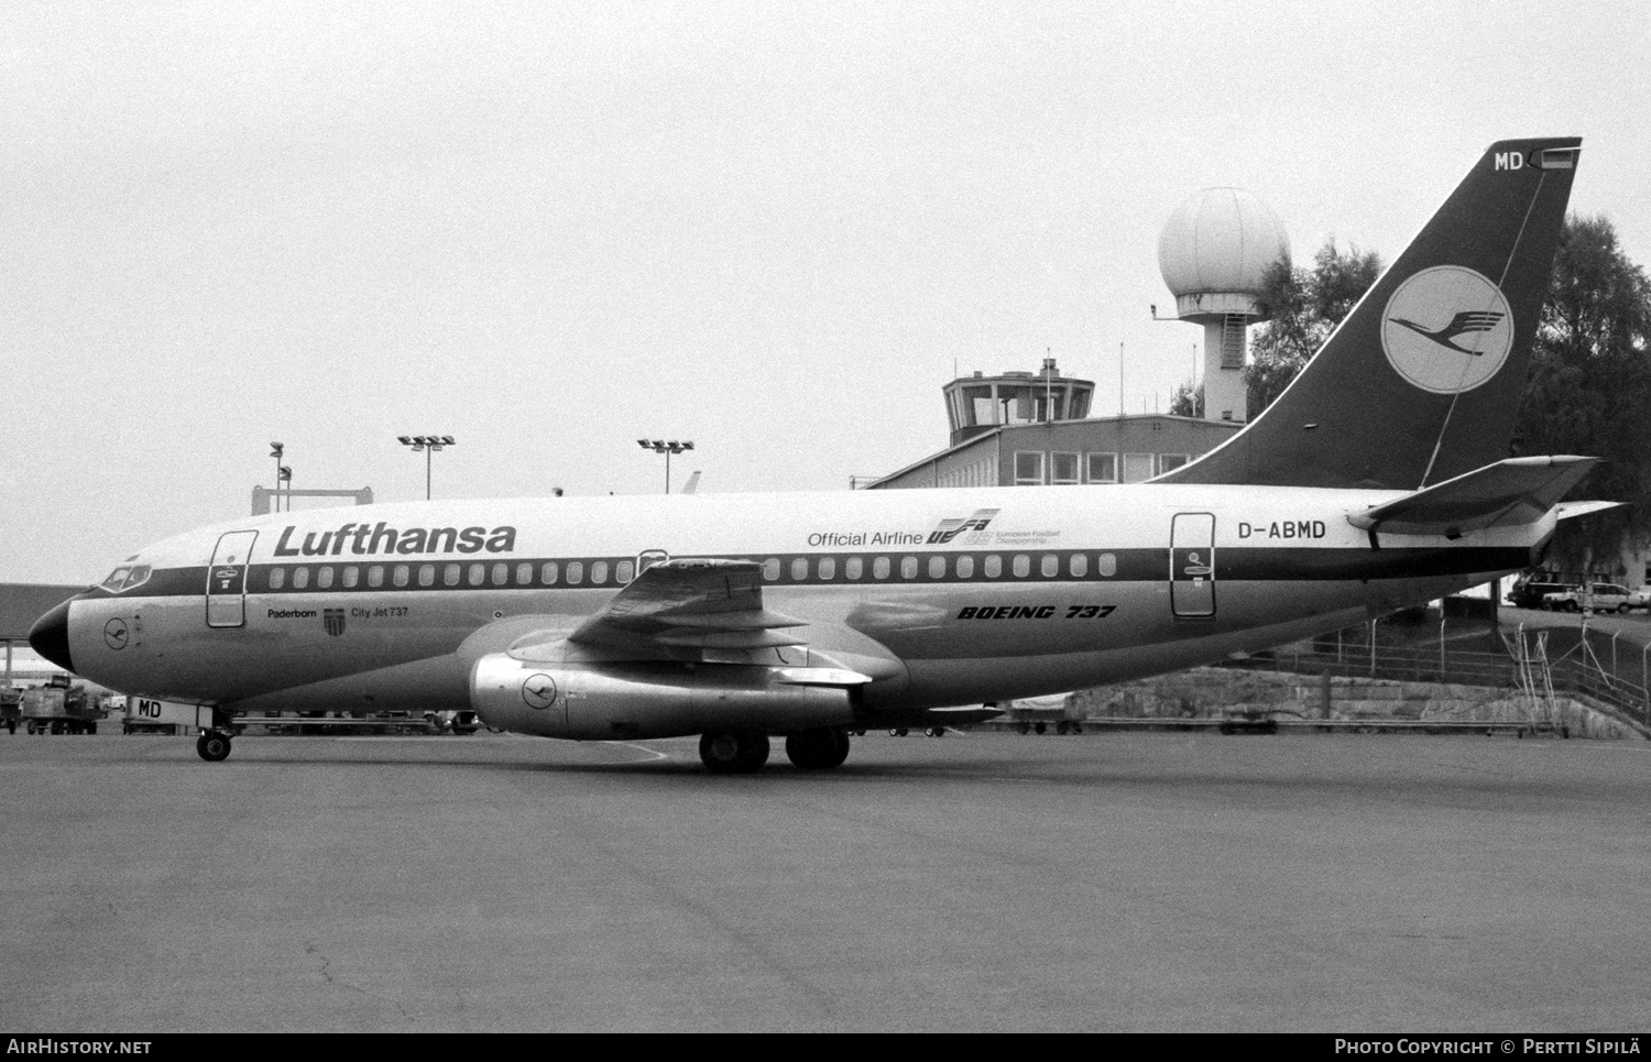
[[[1271,320],[1250,345],[1255,355],[1245,368],[1250,420],[1289,386],[1379,276],[1382,259],[1375,251],[1360,253],[1357,244],[1347,244],[1344,254],[1334,236],[1313,256],[1311,271],[1294,268],[1288,258],[1266,268],[1260,301]]]

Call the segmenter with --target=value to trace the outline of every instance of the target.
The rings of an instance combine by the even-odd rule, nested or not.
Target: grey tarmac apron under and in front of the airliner
[[[1651,745],[0,732],[0,1032],[1651,1031]]]

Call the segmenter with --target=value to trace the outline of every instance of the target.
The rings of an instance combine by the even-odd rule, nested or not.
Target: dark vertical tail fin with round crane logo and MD
[[[1504,459],[1580,144],[1493,144],[1284,393],[1159,482],[1417,491]]]

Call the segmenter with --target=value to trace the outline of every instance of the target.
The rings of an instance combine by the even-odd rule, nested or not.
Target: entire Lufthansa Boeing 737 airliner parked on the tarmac
[[[1598,507],[1560,504],[1593,459],[1507,458],[1578,145],[1493,145],[1263,416],[1151,482],[286,512],[144,547],[30,642],[210,705],[206,760],[244,712],[474,709],[555,738],[697,733],[730,773],[771,735],[834,768],[850,730],[1423,603]]]

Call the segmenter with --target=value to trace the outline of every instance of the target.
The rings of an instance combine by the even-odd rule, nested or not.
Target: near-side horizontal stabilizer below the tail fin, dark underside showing
[[[1347,517],[1392,535],[1456,538],[1488,527],[1535,524],[1598,458],[1509,458]]]

